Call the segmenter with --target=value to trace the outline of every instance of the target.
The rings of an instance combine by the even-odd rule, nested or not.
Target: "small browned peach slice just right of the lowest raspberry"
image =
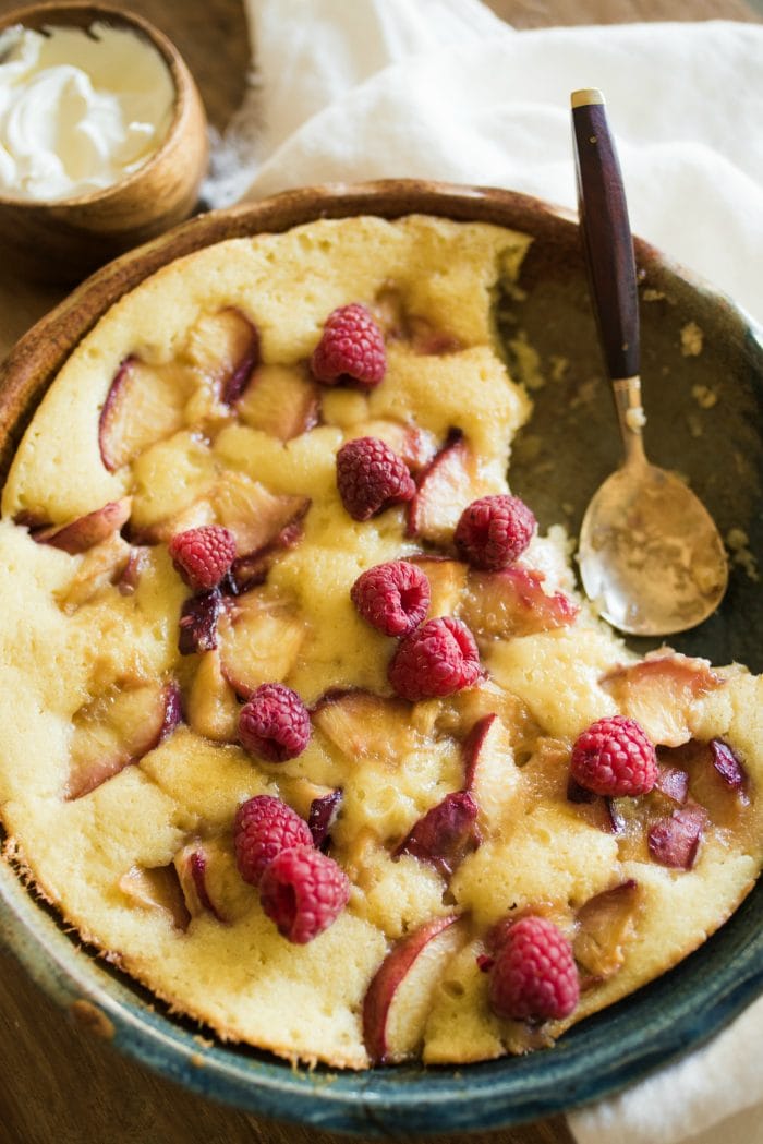
[[[612,977],[622,966],[623,946],[635,930],[637,905],[638,883],[628,879],[594,895],[578,911],[572,952],[596,984]]]

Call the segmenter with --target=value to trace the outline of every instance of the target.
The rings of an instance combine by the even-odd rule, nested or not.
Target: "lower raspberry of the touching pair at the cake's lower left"
[[[336,921],[350,897],[344,871],[313,847],[281,850],[260,883],[262,908],[278,932],[304,945]]]

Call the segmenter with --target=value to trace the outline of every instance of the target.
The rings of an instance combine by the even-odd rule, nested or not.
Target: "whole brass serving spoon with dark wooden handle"
[[[572,93],[578,204],[591,301],[612,383],[625,460],[594,494],[578,559],[587,596],[620,631],[663,636],[693,628],[721,603],[723,541],[683,480],[644,453],[638,300],[620,165],[602,93]]]

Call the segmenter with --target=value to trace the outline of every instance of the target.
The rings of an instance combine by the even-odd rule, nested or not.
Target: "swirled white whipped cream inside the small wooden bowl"
[[[93,24],[0,33],[0,194],[67,199],[119,182],[164,142],[175,88],[153,46]]]

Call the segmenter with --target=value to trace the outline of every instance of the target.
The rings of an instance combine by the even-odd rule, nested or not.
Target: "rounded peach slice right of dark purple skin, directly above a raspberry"
[[[296,606],[262,589],[228,602],[217,626],[222,674],[243,699],[292,670],[305,628]]]

